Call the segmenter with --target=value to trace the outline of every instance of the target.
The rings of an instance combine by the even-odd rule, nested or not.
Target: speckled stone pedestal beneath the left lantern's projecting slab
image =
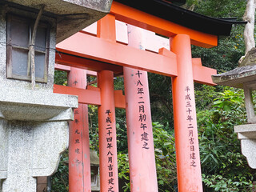
[[[35,192],[36,177],[58,167],[68,146],[68,123],[0,120],[0,146],[0,178],[6,178],[0,191]]]

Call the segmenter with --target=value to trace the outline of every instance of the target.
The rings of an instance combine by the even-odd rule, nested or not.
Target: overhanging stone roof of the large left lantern
[[[110,12],[112,0],[4,0],[39,9],[45,5],[46,12],[58,18],[57,43],[79,30],[97,22]]]

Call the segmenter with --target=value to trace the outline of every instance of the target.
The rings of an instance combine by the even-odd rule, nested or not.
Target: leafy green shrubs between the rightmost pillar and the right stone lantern
[[[234,125],[246,123],[242,90],[225,88],[210,110],[198,112],[202,181],[206,191],[248,191],[254,178]]]

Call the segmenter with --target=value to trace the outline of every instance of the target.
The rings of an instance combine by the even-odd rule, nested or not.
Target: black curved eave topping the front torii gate
[[[218,36],[229,36],[233,24],[246,24],[237,21],[235,18],[210,18],[202,14],[195,13],[182,7],[175,6],[174,3],[164,0],[115,0],[126,6],[152,14],[158,18],[186,26],[193,30],[198,30],[206,34]],[[186,1],[173,1],[186,2]]]

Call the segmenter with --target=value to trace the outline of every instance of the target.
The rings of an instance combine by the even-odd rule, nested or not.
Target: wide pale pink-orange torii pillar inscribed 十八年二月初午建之
[[[142,29],[128,25],[128,46],[143,49]],[[130,57],[133,57],[130,55]],[[124,67],[130,191],[157,192],[147,72]]]

